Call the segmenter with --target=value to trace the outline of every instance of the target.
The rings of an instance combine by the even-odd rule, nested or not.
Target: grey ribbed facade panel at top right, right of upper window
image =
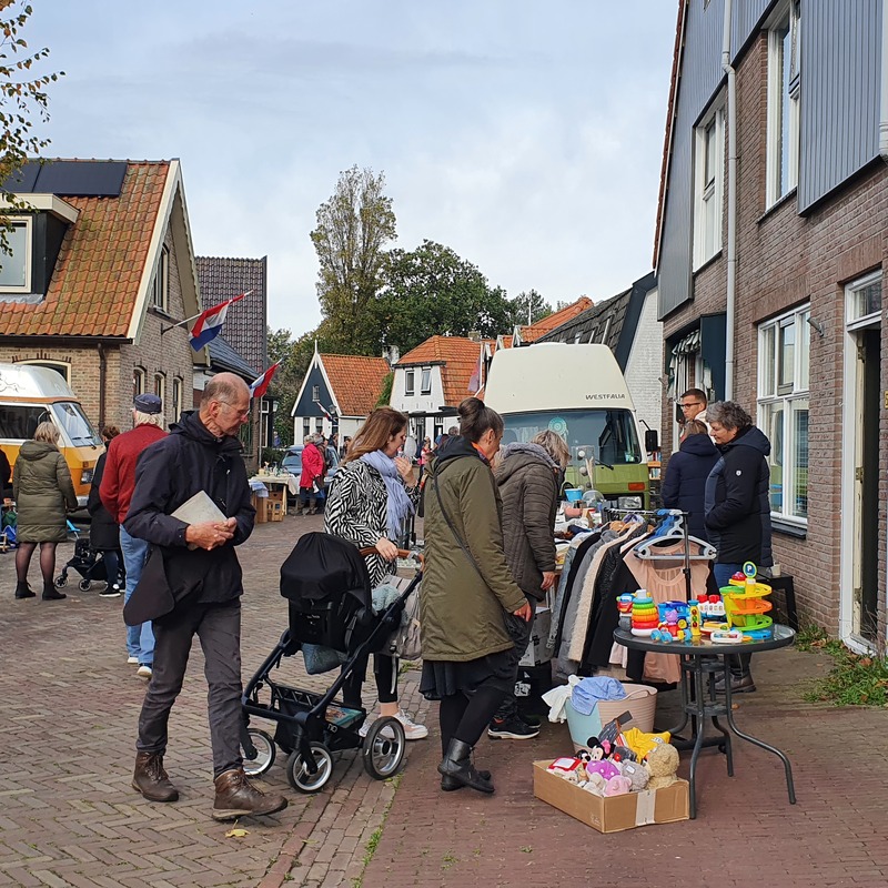
[[[801,7],[800,211],[879,153],[881,21],[881,0]]]

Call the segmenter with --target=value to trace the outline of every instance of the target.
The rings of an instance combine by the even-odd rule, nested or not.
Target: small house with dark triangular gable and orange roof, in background
[[[384,357],[321,354],[315,344],[312,362],[293,404],[293,443],[320,432],[339,433],[340,445],[354,437],[380,401],[391,373]]]

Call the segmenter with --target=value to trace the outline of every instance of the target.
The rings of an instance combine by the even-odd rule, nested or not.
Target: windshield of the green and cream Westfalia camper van
[[[557,432],[576,460],[577,451],[591,451],[595,462],[606,465],[627,465],[642,462],[642,450],[635,432],[633,415],[627,410],[565,410],[541,413],[511,413],[503,416],[503,446],[519,441],[526,443],[546,430]]]

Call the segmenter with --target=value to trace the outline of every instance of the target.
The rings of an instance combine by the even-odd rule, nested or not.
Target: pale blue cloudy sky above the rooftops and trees
[[[394,245],[509,296],[650,271],[675,0],[30,2],[65,72],[44,155],[179,158],[196,254],[268,255],[273,329],[321,320],[310,232],[354,164],[385,174]]]

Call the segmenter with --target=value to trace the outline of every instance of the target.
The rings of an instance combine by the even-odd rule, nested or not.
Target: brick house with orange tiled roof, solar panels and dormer
[[[0,361],[61,373],[97,426],[130,428],[140,392],[178,418],[193,353],[171,324],[200,311],[179,161],[29,162],[6,186],[32,209],[8,215]]]

